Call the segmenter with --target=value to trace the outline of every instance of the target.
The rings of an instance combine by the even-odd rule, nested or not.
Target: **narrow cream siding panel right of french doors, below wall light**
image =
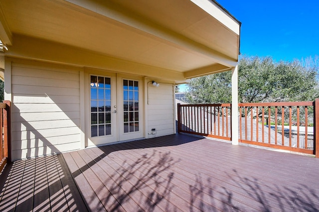
[[[156,134],[148,137],[158,137],[174,133],[174,93],[173,87],[161,84],[160,87],[148,87],[148,127],[147,133],[156,129]]]

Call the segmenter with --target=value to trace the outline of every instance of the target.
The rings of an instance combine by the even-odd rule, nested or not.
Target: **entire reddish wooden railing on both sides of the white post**
[[[240,103],[238,113],[239,142],[319,157],[319,100]],[[177,117],[178,132],[231,140],[231,104],[177,104]]]

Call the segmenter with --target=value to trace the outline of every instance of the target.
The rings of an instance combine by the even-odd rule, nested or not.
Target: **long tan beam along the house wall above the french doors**
[[[91,67],[160,79],[185,81],[181,72],[135,63],[24,35],[14,34],[13,38],[14,45],[10,46],[6,52],[6,56],[9,57],[28,58],[78,67]]]

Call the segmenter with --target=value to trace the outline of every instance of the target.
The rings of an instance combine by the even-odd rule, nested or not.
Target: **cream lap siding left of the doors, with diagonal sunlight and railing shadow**
[[[11,75],[12,159],[79,149],[79,70],[13,63]]]

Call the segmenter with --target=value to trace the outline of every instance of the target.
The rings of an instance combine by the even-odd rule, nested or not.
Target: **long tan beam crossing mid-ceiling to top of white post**
[[[68,1],[71,4],[68,3],[67,5],[65,5],[65,1]],[[176,48],[180,48],[184,51],[189,51],[192,53],[197,52],[198,54],[214,58],[216,62],[225,66],[234,67],[237,64],[237,58],[234,59],[227,55],[224,55],[219,51],[216,51],[201,43],[189,39],[175,31],[160,26],[159,24],[156,24],[146,19],[145,17],[134,14],[133,11],[128,11],[123,7],[120,8],[114,5],[114,3],[112,2],[97,0],[90,2],[85,0],[64,0],[57,2],[63,3],[65,6],[68,7],[73,5],[73,9],[80,10],[86,13],[88,13],[88,10],[90,10],[91,13],[88,13],[89,15],[96,16],[96,13],[100,14],[110,20],[116,21],[116,24],[122,23],[126,25],[126,27],[132,27],[132,29],[137,30],[139,33],[146,33],[149,36],[152,35],[154,39],[158,39],[160,42],[165,42],[168,45],[174,45]],[[210,3],[210,6],[214,5]],[[221,10],[219,10],[219,12],[221,12]]]

